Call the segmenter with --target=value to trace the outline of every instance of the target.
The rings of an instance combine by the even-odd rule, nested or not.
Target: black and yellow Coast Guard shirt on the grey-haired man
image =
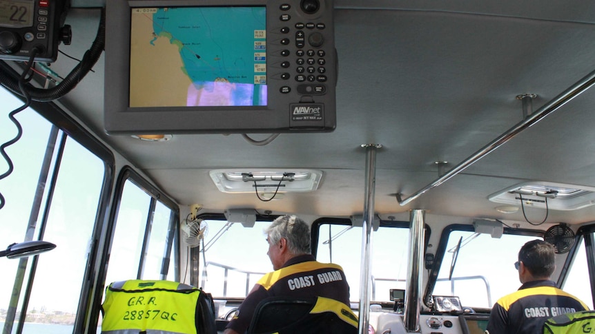
[[[349,305],[349,284],[338,264],[320,263],[313,255],[296,256],[281,269],[267,273],[256,283],[227,328],[244,333],[257,304],[275,296],[320,296]]]

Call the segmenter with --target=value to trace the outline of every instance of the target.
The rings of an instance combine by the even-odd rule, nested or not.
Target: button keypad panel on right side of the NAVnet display
[[[292,128],[333,129],[333,0],[267,0],[266,19],[268,106],[289,101]]]

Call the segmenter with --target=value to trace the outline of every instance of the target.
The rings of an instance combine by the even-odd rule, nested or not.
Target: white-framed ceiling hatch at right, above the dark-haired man
[[[595,205],[595,188],[556,182],[523,182],[491,194],[488,199],[507,205],[570,211]]]

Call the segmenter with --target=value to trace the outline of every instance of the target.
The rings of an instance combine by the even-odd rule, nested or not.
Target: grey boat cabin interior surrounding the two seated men
[[[124,280],[222,333],[287,214],[359,333],[483,333],[534,239],[593,309],[594,41],[580,0],[0,0],[3,333]]]

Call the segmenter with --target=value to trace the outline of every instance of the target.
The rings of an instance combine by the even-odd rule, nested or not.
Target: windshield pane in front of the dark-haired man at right
[[[474,231],[451,231],[433,295],[455,295],[462,306],[491,308],[498,298],[520,286],[514,262],[520,247],[535,239],[538,237],[503,234],[491,238]]]

